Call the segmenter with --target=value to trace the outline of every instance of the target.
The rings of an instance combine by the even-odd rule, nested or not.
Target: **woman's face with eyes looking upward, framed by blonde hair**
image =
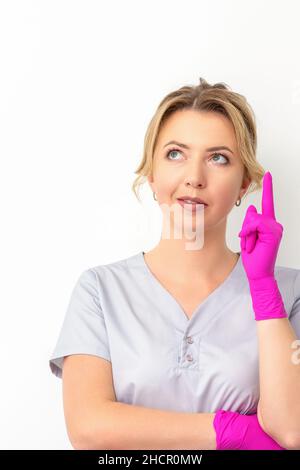
[[[230,150],[208,150],[221,146]],[[207,228],[223,220],[244,195],[250,181],[243,175],[231,122],[216,112],[179,110],[161,128],[148,181],[158,204],[178,204],[182,196],[201,198],[207,204]]]

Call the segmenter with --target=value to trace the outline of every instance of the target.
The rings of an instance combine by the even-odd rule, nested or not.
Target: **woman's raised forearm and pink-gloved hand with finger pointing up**
[[[249,281],[259,342],[259,412],[265,432],[283,447],[300,446],[300,365],[292,360],[297,338],[285,311],[276,257],[283,225],[275,217],[273,181],[263,179],[262,213],[250,205],[244,218],[241,256]]]

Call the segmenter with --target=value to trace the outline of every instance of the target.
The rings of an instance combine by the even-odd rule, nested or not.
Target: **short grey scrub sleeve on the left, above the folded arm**
[[[49,360],[50,369],[62,377],[64,356],[92,354],[111,360],[106,325],[99,301],[97,273],[87,269],[73,288],[62,328]]]

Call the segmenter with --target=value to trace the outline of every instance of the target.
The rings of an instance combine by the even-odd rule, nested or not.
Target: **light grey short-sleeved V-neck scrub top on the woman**
[[[300,338],[300,270],[275,267]],[[184,412],[255,413],[257,326],[241,256],[189,319],[152,274],[144,252],[82,272],[49,365],[92,354],[111,362],[117,401]]]

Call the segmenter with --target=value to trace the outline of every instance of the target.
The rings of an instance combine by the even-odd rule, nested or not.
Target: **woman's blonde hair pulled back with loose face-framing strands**
[[[166,95],[148,125],[142,160],[134,172],[138,176],[132,184],[132,190],[139,201],[139,187],[152,174],[159,131],[171,114],[182,109],[213,111],[225,115],[235,130],[239,154],[245,166],[244,177],[251,181],[247,192],[255,192],[262,187],[265,170],[256,160],[256,120],[250,104],[243,95],[231,91],[225,83],[211,85],[202,77],[199,80],[199,85],[183,86]]]

